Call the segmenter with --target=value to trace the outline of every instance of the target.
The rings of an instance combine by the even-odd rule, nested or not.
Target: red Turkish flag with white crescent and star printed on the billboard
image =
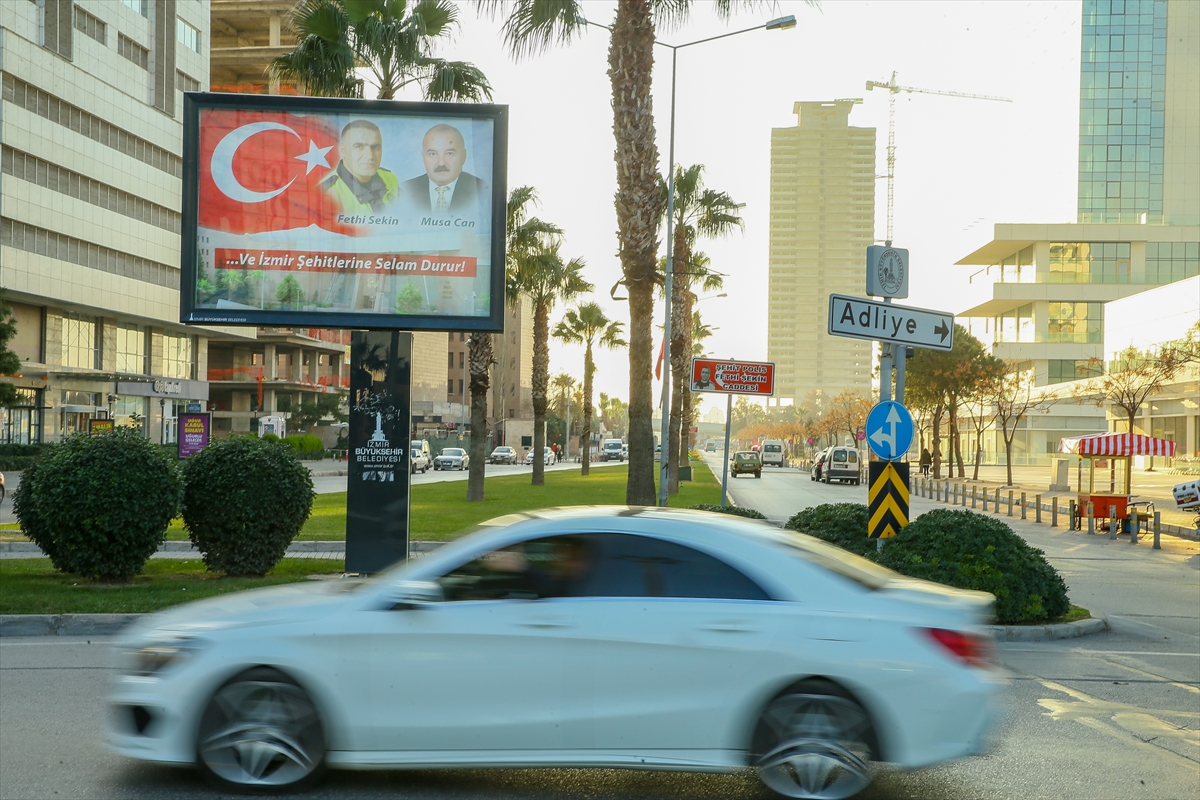
[[[233,234],[337,223],[337,203],[318,181],[337,167],[337,130],[328,118],[209,109],[200,115],[202,228]]]

